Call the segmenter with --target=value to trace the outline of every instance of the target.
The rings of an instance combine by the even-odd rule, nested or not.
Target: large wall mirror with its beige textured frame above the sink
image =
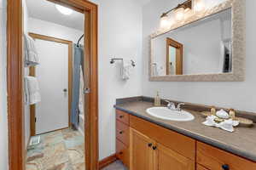
[[[227,0],[150,36],[149,80],[241,82],[245,74],[245,2]]]

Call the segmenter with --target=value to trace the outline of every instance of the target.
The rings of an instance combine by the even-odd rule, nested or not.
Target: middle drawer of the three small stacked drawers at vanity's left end
[[[129,127],[123,122],[116,121],[116,138],[129,145]]]

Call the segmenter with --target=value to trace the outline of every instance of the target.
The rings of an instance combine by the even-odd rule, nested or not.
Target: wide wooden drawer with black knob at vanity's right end
[[[209,170],[256,169],[256,162],[248,161],[201,142],[196,143],[196,161]]]

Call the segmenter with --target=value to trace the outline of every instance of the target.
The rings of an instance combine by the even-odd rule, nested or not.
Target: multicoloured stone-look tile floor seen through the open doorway
[[[27,150],[26,170],[85,170],[84,137],[64,129],[41,135],[41,143]]]

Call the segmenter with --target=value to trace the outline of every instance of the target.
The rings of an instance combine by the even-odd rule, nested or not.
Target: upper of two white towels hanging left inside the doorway
[[[33,66],[39,64],[38,51],[35,41],[32,37],[24,34],[25,47],[25,66]]]

